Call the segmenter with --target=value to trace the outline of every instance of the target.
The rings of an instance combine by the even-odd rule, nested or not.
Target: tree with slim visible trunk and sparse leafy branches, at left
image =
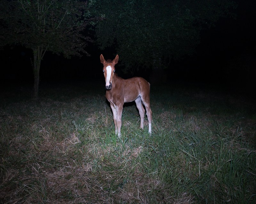
[[[85,28],[98,19],[91,10],[95,1],[9,0],[0,5],[0,46],[22,45],[32,49],[34,97],[38,98],[39,71],[46,51],[65,57],[87,54],[91,38]]]

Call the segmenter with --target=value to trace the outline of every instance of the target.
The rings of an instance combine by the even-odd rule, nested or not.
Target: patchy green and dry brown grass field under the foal
[[[151,86],[152,135],[135,104],[114,134],[103,86],[5,88],[2,203],[256,203],[255,100]]]

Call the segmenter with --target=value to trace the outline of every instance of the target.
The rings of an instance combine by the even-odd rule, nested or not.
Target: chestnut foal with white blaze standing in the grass
[[[152,111],[150,109],[149,90],[150,84],[141,77],[122,79],[115,75],[115,65],[118,62],[118,55],[111,61],[106,61],[100,55],[100,62],[103,64],[103,73],[106,81],[106,98],[108,99],[115,123],[116,134],[121,135],[122,112],[126,102],[135,101],[140,113],[140,128],[143,129],[145,109],[148,116],[148,132],[151,133]],[[142,103],[141,103],[142,102]]]

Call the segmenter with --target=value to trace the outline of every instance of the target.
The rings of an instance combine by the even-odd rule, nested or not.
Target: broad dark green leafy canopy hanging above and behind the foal
[[[107,0],[96,25],[102,49],[113,47],[126,69],[168,67],[170,60],[194,53],[200,31],[230,15],[229,0]]]

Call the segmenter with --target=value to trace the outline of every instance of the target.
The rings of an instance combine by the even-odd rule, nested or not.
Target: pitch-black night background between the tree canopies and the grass
[[[201,43],[196,53],[180,62],[172,62],[167,75],[171,81],[226,83],[254,86],[256,77],[256,3],[254,0],[238,1],[237,17],[221,18],[215,26],[201,33]],[[91,80],[104,81],[100,64],[101,52],[96,46],[88,47],[91,57],[61,56],[46,53],[41,64],[41,82]],[[31,52],[22,47],[1,52],[3,62],[1,80],[33,83],[30,62]],[[242,64],[238,66],[238,64]],[[237,68],[238,67],[238,68]],[[243,67],[243,68],[241,68]],[[116,65],[118,70],[118,65]],[[90,75],[86,74],[90,70]],[[119,70],[119,75],[122,76]],[[137,73],[150,81],[149,74]],[[126,76],[123,76],[124,78]]]

